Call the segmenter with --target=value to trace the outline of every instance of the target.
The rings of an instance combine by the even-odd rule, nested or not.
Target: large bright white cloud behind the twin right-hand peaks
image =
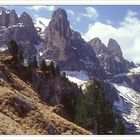
[[[115,39],[126,59],[140,63],[140,19],[135,11],[128,10],[119,27],[101,22],[90,24],[84,38],[88,41],[95,37],[99,37],[105,45],[109,38]]]

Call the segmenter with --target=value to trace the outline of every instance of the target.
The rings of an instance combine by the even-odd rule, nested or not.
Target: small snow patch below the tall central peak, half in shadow
[[[76,83],[82,89],[85,89],[86,83],[89,81],[87,73],[83,70],[81,71],[62,71],[66,73],[66,77],[73,83]]]

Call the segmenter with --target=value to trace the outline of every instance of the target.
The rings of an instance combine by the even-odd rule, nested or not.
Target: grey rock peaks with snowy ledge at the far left
[[[0,12],[0,46],[15,40],[25,58],[36,55],[34,45],[39,42],[39,37],[32,18],[25,12],[18,17],[15,10],[3,9]]]

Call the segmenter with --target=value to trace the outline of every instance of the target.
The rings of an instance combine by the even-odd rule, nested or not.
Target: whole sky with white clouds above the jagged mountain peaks
[[[85,40],[99,37],[107,45],[114,38],[126,59],[140,63],[140,6],[6,6],[19,15],[25,11],[46,26],[58,7],[66,10],[71,27]]]

